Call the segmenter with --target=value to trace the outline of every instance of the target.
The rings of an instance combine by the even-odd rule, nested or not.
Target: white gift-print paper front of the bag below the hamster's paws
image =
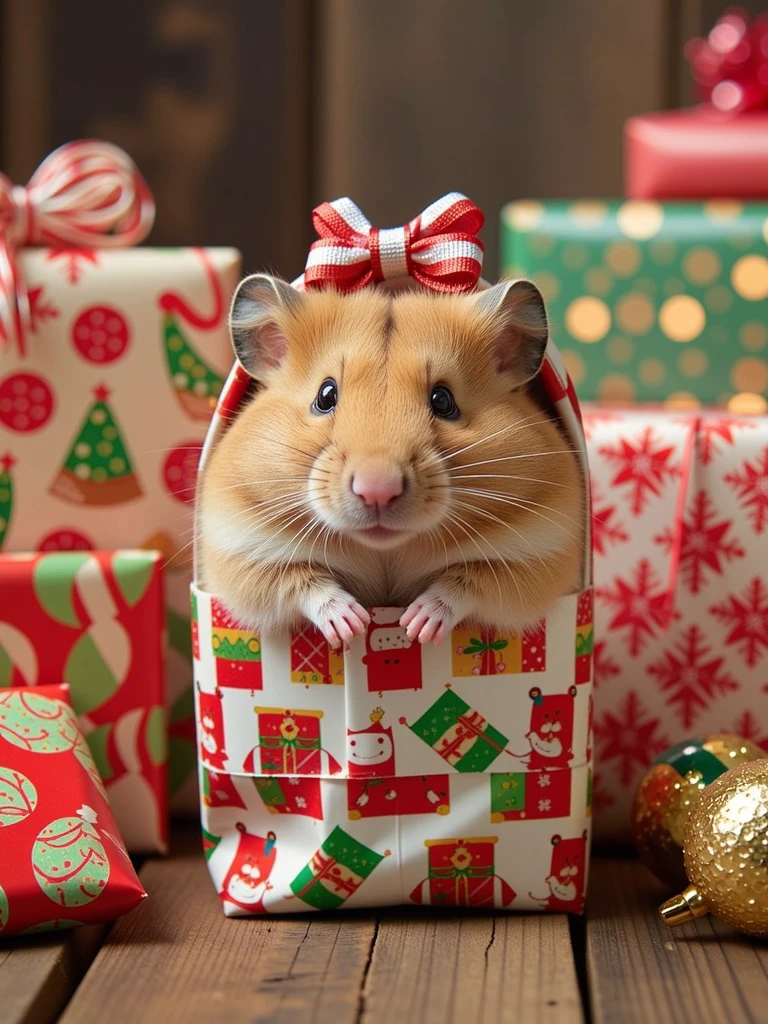
[[[195,590],[194,608],[204,847],[225,913],[582,908],[591,591],[523,637],[458,628],[438,647],[375,608],[343,655],[312,636],[311,666],[306,631],[240,630],[223,673],[218,602]]]

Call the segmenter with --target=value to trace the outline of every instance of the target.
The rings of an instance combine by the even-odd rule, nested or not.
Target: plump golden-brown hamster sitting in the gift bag
[[[366,608],[408,636],[521,632],[578,587],[572,444],[526,385],[547,343],[530,282],[470,295],[301,293],[266,274],[230,316],[259,388],[201,486],[202,583],[244,627],[310,620],[338,646]]]

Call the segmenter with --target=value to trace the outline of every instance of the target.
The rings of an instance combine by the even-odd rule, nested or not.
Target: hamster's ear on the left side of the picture
[[[284,325],[301,307],[301,296],[288,282],[254,273],[238,285],[229,309],[234,351],[252,377],[279,369],[288,354]]]

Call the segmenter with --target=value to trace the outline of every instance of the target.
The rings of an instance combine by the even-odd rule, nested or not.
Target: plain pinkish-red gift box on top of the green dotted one
[[[630,118],[629,199],[768,199],[768,111],[732,117],[702,104]]]

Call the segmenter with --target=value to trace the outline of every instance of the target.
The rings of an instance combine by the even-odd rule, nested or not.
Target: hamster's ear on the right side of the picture
[[[541,369],[549,337],[542,293],[531,281],[503,281],[475,302],[492,319],[497,370],[509,374],[515,387],[527,384]]]

